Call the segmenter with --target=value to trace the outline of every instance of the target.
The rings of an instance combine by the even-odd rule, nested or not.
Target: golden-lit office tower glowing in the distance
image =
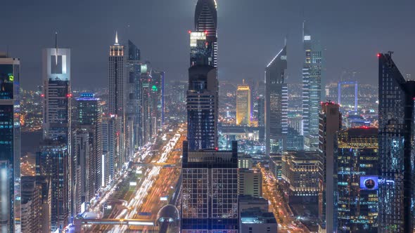
[[[250,126],[250,88],[245,80],[236,89],[236,125]]]

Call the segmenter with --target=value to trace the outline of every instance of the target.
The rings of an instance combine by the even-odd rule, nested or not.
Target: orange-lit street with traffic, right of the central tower
[[[293,213],[290,211],[288,204],[283,201],[281,193],[278,191],[278,182],[274,176],[263,166],[259,165],[258,168],[260,168],[262,173],[262,194],[270,202],[269,208],[271,208],[278,222],[278,232],[309,233],[307,227],[293,218]]]

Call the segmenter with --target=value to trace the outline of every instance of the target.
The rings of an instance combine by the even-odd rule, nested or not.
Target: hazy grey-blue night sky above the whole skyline
[[[264,67],[288,35],[288,83],[300,81],[302,21],[324,48],[326,79],[343,72],[376,84],[378,51],[395,51],[415,79],[413,0],[217,0],[219,79],[264,79]],[[23,88],[41,84],[41,48],[72,48],[72,86],[106,87],[115,30],[167,80],[187,80],[196,0],[0,0],[0,51],[21,60]],[[346,77],[347,74],[343,77]]]

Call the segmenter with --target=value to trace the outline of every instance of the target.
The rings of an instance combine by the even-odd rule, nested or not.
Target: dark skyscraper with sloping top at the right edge
[[[392,52],[379,60],[379,231],[412,232],[415,81],[404,79]]]

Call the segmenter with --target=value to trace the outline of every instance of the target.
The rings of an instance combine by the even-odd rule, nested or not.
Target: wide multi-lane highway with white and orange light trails
[[[165,143],[162,148],[147,147],[142,152],[138,153],[134,162],[145,164],[174,164],[172,166],[145,166],[139,169],[143,172],[142,178],[138,181],[136,189],[125,203],[122,203],[120,208],[117,205],[113,208],[108,218],[148,218],[155,220],[160,208],[167,204],[167,201],[161,201],[160,197],[170,195],[174,191],[177,180],[180,175],[181,163],[181,145],[186,135],[184,126],[181,126],[177,131],[170,133],[170,136],[165,136]],[[136,168],[133,168],[136,169]],[[118,181],[120,183],[120,181]],[[113,194],[116,192],[112,187],[109,192],[99,201],[99,204],[94,206],[93,210],[101,211],[102,205],[108,200],[113,199]],[[145,216],[138,213],[148,213]],[[132,227],[134,228],[134,227]],[[146,227],[144,227],[146,228]],[[131,228],[130,228],[131,229]],[[141,227],[142,229],[142,227]],[[91,227],[87,232],[124,232],[127,230],[125,225],[106,225]],[[151,229],[146,229],[151,230]]]

